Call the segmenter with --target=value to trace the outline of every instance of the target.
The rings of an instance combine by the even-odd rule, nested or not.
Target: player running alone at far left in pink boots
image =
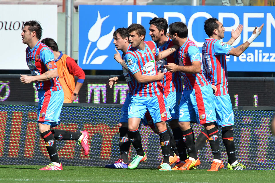
[[[45,141],[46,149],[52,161],[40,170],[62,170],[56,149],[56,140],[78,140],[84,150],[84,155],[87,156],[89,153],[89,133],[87,131],[51,130],[52,127],[60,124],[59,115],[64,93],[58,81],[54,55],[49,47],[39,41],[41,35],[42,27],[38,21],[33,20],[24,23],[21,36],[22,42],[28,45],[26,60],[32,76],[21,75],[20,80],[24,84],[35,81],[38,90],[38,130]]]

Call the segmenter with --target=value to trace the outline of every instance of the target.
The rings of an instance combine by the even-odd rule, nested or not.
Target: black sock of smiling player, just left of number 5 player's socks
[[[185,161],[187,158],[185,144],[182,140],[181,130],[180,128],[172,129],[173,136],[175,138],[175,143],[178,150],[178,156],[180,157],[181,161]]]

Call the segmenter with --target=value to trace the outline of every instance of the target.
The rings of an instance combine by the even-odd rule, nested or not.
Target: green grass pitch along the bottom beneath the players
[[[0,165],[0,182],[119,182],[119,183],[244,183],[275,182],[275,171],[204,170],[167,171],[157,169],[107,169],[64,166],[62,171],[41,171],[43,166]]]

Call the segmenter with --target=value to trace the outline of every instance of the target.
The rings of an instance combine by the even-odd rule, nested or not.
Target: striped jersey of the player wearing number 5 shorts
[[[192,61],[200,61],[201,56],[197,45],[188,38],[185,43],[178,49],[178,60],[181,66],[191,65]],[[190,90],[201,86],[209,85],[203,73],[203,65],[201,62],[201,72],[197,74],[182,73],[184,78],[184,88]]]

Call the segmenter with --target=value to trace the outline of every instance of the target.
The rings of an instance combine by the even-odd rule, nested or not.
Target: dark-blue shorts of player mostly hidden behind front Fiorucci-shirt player
[[[121,108],[121,114],[120,114],[120,120],[119,120],[120,123],[128,123],[128,108],[129,108],[130,102],[132,100],[132,96],[133,95],[130,93],[128,93],[126,96],[125,102]],[[141,123],[143,123],[144,126],[151,126],[151,125],[154,126],[154,122],[153,122],[152,117],[151,117],[150,113],[148,112],[148,110],[145,113],[145,115],[143,116],[143,118],[141,119]],[[141,123],[140,123],[140,125],[141,125]],[[155,127],[153,127],[153,128],[155,128]]]

